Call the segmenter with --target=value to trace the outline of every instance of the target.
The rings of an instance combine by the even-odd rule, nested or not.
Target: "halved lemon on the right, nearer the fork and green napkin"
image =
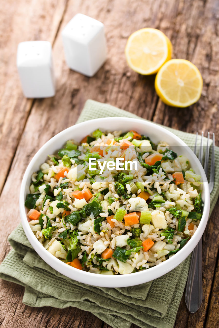
[[[155,90],[169,106],[187,107],[199,100],[203,80],[198,68],[185,59],[171,59],[159,70]]]

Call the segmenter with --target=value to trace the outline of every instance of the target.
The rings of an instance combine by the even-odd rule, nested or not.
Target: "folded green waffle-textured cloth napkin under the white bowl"
[[[98,117],[138,116],[108,104],[88,100],[77,123]],[[189,146],[195,135],[167,128]],[[205,139],[206,142],[206,139]],[[219,195],[219,149],[215,152],[215,187],[210,212]],[[138,286],[102,288],[82,284],[52,269],[33,250],[21,223],[9,236],[12,251],[0,265],[0,278],[25,287],[23,303],[29,306],[74,306],[89,311],[114,328],[171,328],[186,284],[188,256],[168,274]]]

